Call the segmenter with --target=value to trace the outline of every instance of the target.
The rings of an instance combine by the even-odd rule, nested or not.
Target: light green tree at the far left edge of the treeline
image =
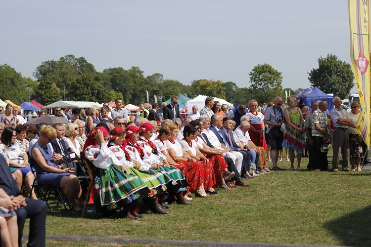
[[[0,65],[0,85],[0,99],[22,104],[29,101],[32,87],[37,83],[30,78],[23,78],[14,68],[4,64]]]

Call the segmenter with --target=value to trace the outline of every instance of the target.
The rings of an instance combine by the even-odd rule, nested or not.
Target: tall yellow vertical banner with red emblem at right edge
[[[349,0],[348,5],[350,60],[362,107],[357,121],[357,132],[370,147],[370,7],[368,1]]]

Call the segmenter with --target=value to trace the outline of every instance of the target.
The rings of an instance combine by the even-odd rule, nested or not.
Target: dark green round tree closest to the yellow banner
[[[325,93],[333,93],[344,99],[353,88],[354,75],[350,64],[343,62],[332,54],[318,59],[318,68],[308,73],[312,86],[317,86]]]

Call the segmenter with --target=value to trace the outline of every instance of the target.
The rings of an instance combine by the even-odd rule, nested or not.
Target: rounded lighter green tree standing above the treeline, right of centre
[[[277,96],[282,95],[281,72],[275,70],[269,64],[258,64],[249,73],[250,91],[252,97],[259,104],[268,103]]]

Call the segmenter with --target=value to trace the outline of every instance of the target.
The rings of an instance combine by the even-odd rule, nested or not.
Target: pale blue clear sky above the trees
[[[1,1],[0,64],[32,77],[73,54],[100,72],[138,66],[184,84],[248,87],[253,67],[268,63],[283,87],[306,88],[320,56],[350,63],[348,18],[346,0]]]

